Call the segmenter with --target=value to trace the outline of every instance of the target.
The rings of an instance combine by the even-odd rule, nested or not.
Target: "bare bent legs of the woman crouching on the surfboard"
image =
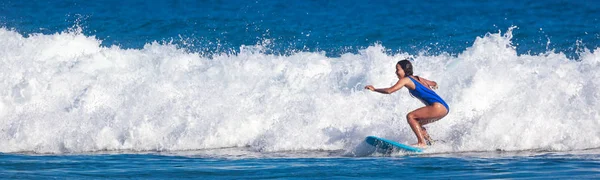
[[[417,136],[418,147],[425,147],[425,136],[429,137],[429,134],[423,130],[423,125],[435,122],[448,114],[448,110],[440,103],[434,103],[430,106],[425,106],[416,109],[406,115],[406,120]]]

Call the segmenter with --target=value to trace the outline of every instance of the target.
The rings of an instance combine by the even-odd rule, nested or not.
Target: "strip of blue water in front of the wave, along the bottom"
[[[0,175],[4,178],[111,179],[594,179],[600,176],[599,160],[600,156],[597,154],[587,153],[240,159],[168,154],[3,154],[0,156]]]

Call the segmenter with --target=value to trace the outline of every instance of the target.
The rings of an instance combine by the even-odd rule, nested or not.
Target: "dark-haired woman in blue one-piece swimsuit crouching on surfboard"
[[[398,61],[396,64],[396,76],[398,82],[389,88],[376,89],[372,85],[365,86],[365,89],[379,92],[382,94],[391,94],[402,87],[408,88],[408,92],[418,98],[425,104],[425,107],[416,109],[406,115],[410,128],[417,136],[416,147],[426,147],[431,143],[431,138],[423,125],[435,122],[445,117],[450,108],[444,100],[433,90],[437,89],[437,83],[419,76],[413,76],[412,64],[409,60]]]

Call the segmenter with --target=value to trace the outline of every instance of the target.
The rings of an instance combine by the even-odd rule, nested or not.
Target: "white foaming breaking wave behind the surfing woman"
[[[450,114],[428,125],[428,152],[568,151],[600,147],[600,49],[578,59],[518,55],[512,30],[476,37],[458,55],[239,53],[205,57],[164,43],[104,47],[78,31],[24,36],[0,29],[0,152],[344,150],[368,135],[416,138],[423,106],[396,82],[395,63],[439,83]]]

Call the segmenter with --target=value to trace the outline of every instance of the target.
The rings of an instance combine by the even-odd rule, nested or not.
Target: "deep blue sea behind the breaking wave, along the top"
[[[269,51],[338,56],[382,44],[389,51],[462,52],[475,37],[517,26],[519,53],[576,55],[600,44],[598,1],[4,1],[1,24],[23,34],[79,25],[103,45],[158,41],[203,53],[269,41]]]

